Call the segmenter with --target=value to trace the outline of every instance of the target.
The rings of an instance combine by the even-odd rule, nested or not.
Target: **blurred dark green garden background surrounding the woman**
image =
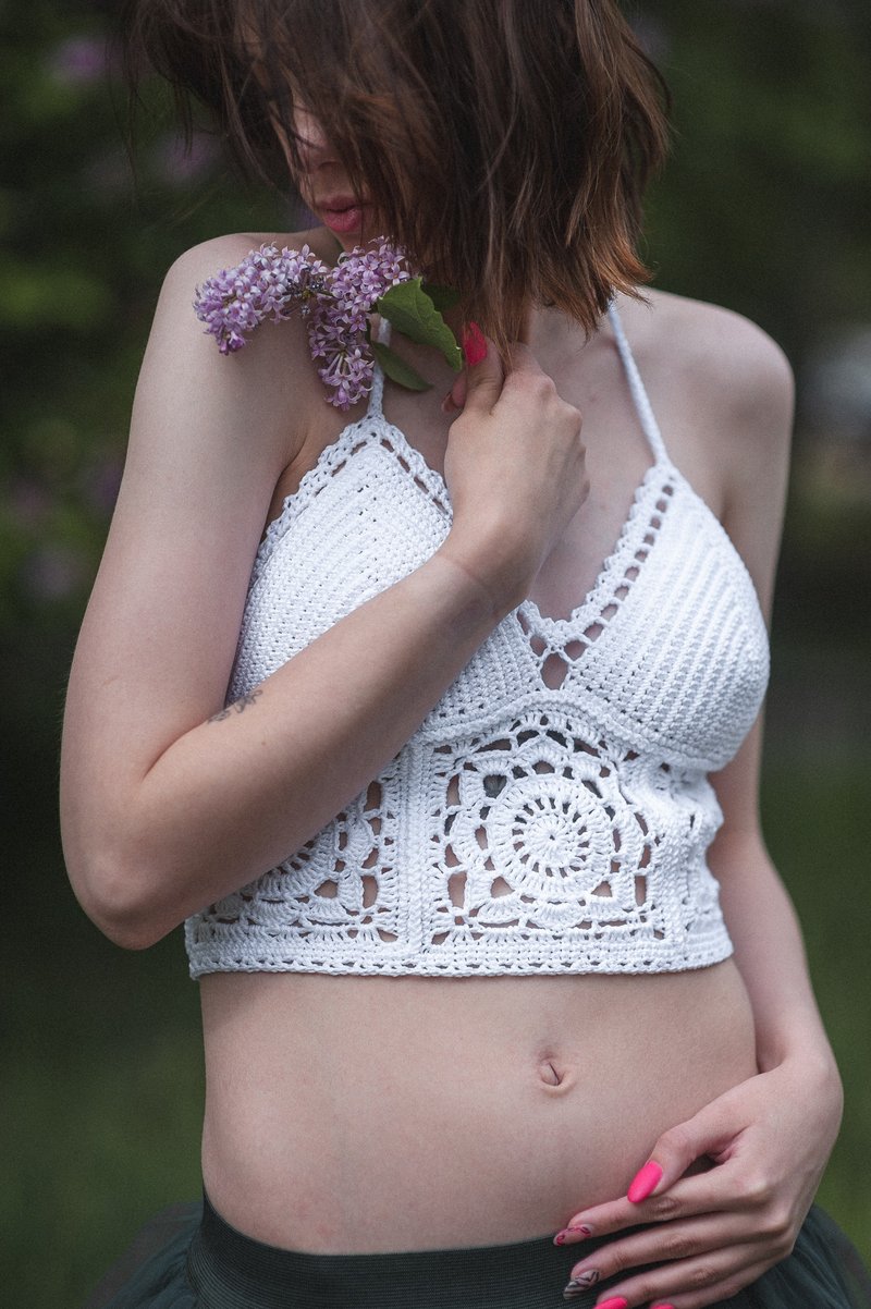
[[[199,1192],[196,987],[179,933],[126,954],[78,910],[58,742],[163,272],[207,237],[294,226],[290,200],[243,190],[207,134],[186,157],[160,96],[133,188],[105,67],[114,8],[0,0],[0,1223],[4,1296],[30,1309],[81,1304],[139,1223]],[[871,8],[629,12],[675,96],[649,207],[657,284],[755,318],[799,381],[762,806],[847,1089],[821,1199],[871,1258]]]

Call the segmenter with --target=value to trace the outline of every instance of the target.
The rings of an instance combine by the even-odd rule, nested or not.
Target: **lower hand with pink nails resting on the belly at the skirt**
[[[702,1309],[736,1295],[791,1253],[840,1115],[837,1073],[798,1058],[727,1090],[659,1138],[650,1161],[662,1177],[657,1168],[642,1170],[647,1199],[613,1200],[570,1219],[560,1245],[657,1224],[602,1246],[573,1267],[573,1279],[590,1287],[655,1264],[602,1300],[623,1297],[629,1309]],[[697,1161],[706,1170],[685,1175]]]

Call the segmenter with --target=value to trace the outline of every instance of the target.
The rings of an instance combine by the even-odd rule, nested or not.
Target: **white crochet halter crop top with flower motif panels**
[[[768,636],[735,547],[666,453],[616,310],[611,323],[654,462],[590,594],[569,618],[524,601],[356,800],[192,915],[192,977],[670,973],[731,954],[706,774],[756,719]],[[378,373],[366,416],[267,531],[228,702],[449,530],[445,482],[382,390]]]

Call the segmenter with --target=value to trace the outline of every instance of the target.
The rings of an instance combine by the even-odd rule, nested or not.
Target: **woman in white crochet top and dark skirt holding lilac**
[[[205,1200],[112,1302],[867,1304],[806,1219],[840,1084],[755,800],[791,382],[637,293],[655,73],[608,0],[129,30],[277,148],[323,224],[277,243],[456,291],[467,369],[403,343],[433,389],[343,425],[301,318],[194,321],[271,236],[166,279],[61,812],[109,936],[187,920]]]

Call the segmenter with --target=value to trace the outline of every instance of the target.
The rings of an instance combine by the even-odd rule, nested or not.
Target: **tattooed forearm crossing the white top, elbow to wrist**
[[[194,726],[115,785],[111,809],[71,819],[88,912],[122,944],[148,945],[286,857],[378,775],[500,617],[438,552],[341,619],[245,712]],[[76,831],[98,857],[76,857]]]

